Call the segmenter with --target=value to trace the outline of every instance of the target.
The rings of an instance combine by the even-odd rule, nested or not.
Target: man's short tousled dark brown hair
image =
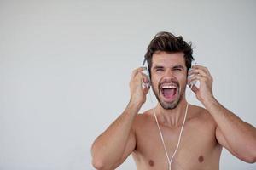
[[[186,63],[187,70],[191,67],[193,49],[192,43],[183,41],[183,37],[175,37],[172,33],[161,31],[154,36],[154,39],[148,45],[145,59],[148,61],[148,70],[151,77],[152,56],[156,51],[165,51],[169,53],[182,52]]]

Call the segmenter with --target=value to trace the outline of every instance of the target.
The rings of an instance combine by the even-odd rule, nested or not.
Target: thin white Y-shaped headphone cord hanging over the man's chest
[[[190,91],[190,93],[191,93],[191,91]],[[189,93],[189,95],[190,95],[190,93]],[[152,100],[152,96],[151,96],[150,90],[149,90],[149,97],[150,97],[150,100],[151,100],[151,104],[153,105],[153,100]],[[184,124],[185,124],[185,121],[186,121],[186,117],[187,117],[187,113],[188,113],[188,107],[189,107],[189,103],[187,103],[187,105],[186,105],[186,111],[185,111],[185,116],[184,116],[184,119],[183,119],[183,125],[182,125],[182,127],[181,127],[181,130],[180,130],[180,133],[179,133],[179,137],[178,137],[178,140],[177,140],[177,147],[176,147],[176,150],[174,151],[171,160],[170,160],[170,158],[169,158],[169,156],[168,156],[168,152],[167,152],[167,150],[166,150],[166,144],[165,144],[165,141],[164,141],[164,138],[163,138],[163,134],[162,134],[162,132],[161,132],[161,130],[160,130],[160,125],[159,125],[159,122],[158,122],[158,120],[157,120],[157,117],[156,117],[154,108],[153,108],[154,119],[155,119],[155,122],[156,122],[156,124],[157,124],[158,130],[159,130],[159,133],[160,133],[160,138],[161,138],[161,140],[162,140],[162,144],[163,144],[164,149],[165,149],[165,151],[166,151],[166,157],[167,157],[167,161],[168,161],[168,170],[171,170],[171,169],[172,169],[172,167],[171,167],[171,165],[172,165],[172,160],[173,160],[173,158],[174,158],[174,156],[175,156],[175,154],[176,154],[176,152],[177,152],[178,146],[179,146],[179,144],[180,144],[181,136],[182,136],[182,133],[183,133],[183,127],[184,127]]]

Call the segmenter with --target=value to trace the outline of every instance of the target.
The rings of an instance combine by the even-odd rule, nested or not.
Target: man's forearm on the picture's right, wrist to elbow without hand
[[[218,129],[223,133],[224,139],[237,155],[252,155],[256,153],[256,129],[238,116],[220,105],[214,98],[204,102],[217,123]]]

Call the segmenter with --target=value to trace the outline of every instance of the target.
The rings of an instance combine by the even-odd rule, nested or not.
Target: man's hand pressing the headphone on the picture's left
[[[143,73],[145,67],[139,67],[132,71],[130,81],[131,102],[139,105],[143,105],[146,101],[146,95],[149,88],[143,87],[143,82],[149,82],[148,76]]]

